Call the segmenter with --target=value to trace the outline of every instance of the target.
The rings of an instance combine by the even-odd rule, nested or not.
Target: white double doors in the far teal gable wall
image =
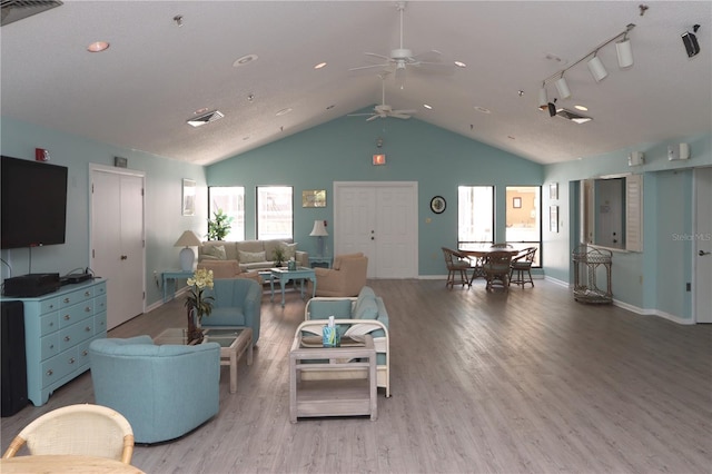
[[[417,182],[335,182],[334,254],[363,251],[368,278],[415,278]]]

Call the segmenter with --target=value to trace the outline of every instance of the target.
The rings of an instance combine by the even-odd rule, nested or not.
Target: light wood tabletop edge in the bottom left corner
[[[0,460],[2,474],[142,474],[144,471],[109,457],[79,454],[42,454]]]

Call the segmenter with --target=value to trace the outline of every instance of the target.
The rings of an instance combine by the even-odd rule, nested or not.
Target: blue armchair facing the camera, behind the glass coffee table
[[[212,313],[202,318],[202,327],[248,326],[253,328],[253,345],[259,339],[263,287],[249,278],[220,278],[208,292],[215,298]]]

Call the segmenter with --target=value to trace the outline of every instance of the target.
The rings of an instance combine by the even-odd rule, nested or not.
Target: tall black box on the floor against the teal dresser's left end
[[[28,404],[22,302],[2,302],[1,330],[1,415],[12,416]]]

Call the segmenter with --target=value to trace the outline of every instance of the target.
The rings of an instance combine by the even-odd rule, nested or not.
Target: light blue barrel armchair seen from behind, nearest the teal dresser
[[[89,345],[95,401],[122,414],[137,443],[182,436],[219,411],[220,346],[154,345],[149,336]]]

